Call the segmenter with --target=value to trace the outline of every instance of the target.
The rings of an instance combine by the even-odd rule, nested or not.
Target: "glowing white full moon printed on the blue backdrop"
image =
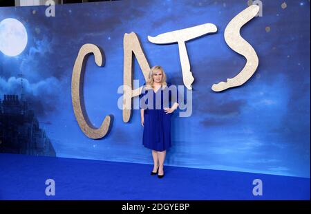
[[[0,51],[7,56],[17,56],[27,45],[26,28],[17,19],[3,19],[0,22]]]

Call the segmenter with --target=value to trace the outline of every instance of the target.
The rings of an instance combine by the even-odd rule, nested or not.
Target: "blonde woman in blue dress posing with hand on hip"
[[[154,66],[140,95],[141,123],[144,127],[142,144],[152,150],[153,171],[164,177],[163,164],[167,149],[171,147],[171,114],[178,108],[177,89],[171,90],[162,67]],[[171,101],[172,98],[176,100]],[[169,102],[173,103],[169,107]]]

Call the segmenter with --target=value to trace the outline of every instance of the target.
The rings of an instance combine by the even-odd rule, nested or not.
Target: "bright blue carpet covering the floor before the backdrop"
[[[310,178],[150,164],[0,154],[0,200],[310,200]],[[46,196],[46,180],[55,196]],[[263,195],[252,195],[252,181]]]

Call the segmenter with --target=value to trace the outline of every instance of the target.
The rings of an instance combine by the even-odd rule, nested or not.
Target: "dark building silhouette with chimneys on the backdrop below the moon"
[[[56,156],[35,112],[26,100],[6,94],[0,98],[0,153]]]

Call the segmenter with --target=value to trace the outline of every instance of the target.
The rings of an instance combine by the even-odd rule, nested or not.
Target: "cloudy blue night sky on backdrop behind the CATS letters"
[[[123,84],[123,36],[135,32],[151,66],[162,65],[170,83],[182,85],[178,45],[155,45],[147,36],[214,23],[216,34],[187,42],[195,81],[188,118],[172,116],[172,145],[166,164],[310,178],[310,1],[262,1],[263,16],[241,29],[259,65],[241,87],[216,93],[211,85],[232,78],[245,58],[225,43],[225,28],[247,1],[113,1],[56,6],[0,8],[0,21],[14,18],[28,33],[18,56],[0,52],[0,96],[20,94],[35,110],[57,156],[151,163],[142,146],[139,110],[122,120],[117,89]],[[95,126],[113,114],[111,132],[100,140],[79,129],[71,104],[71,75],[79,48],[93,43],[106,63],[88,58],[86,111]],[[135,61],[135,79],[144,83]]]

